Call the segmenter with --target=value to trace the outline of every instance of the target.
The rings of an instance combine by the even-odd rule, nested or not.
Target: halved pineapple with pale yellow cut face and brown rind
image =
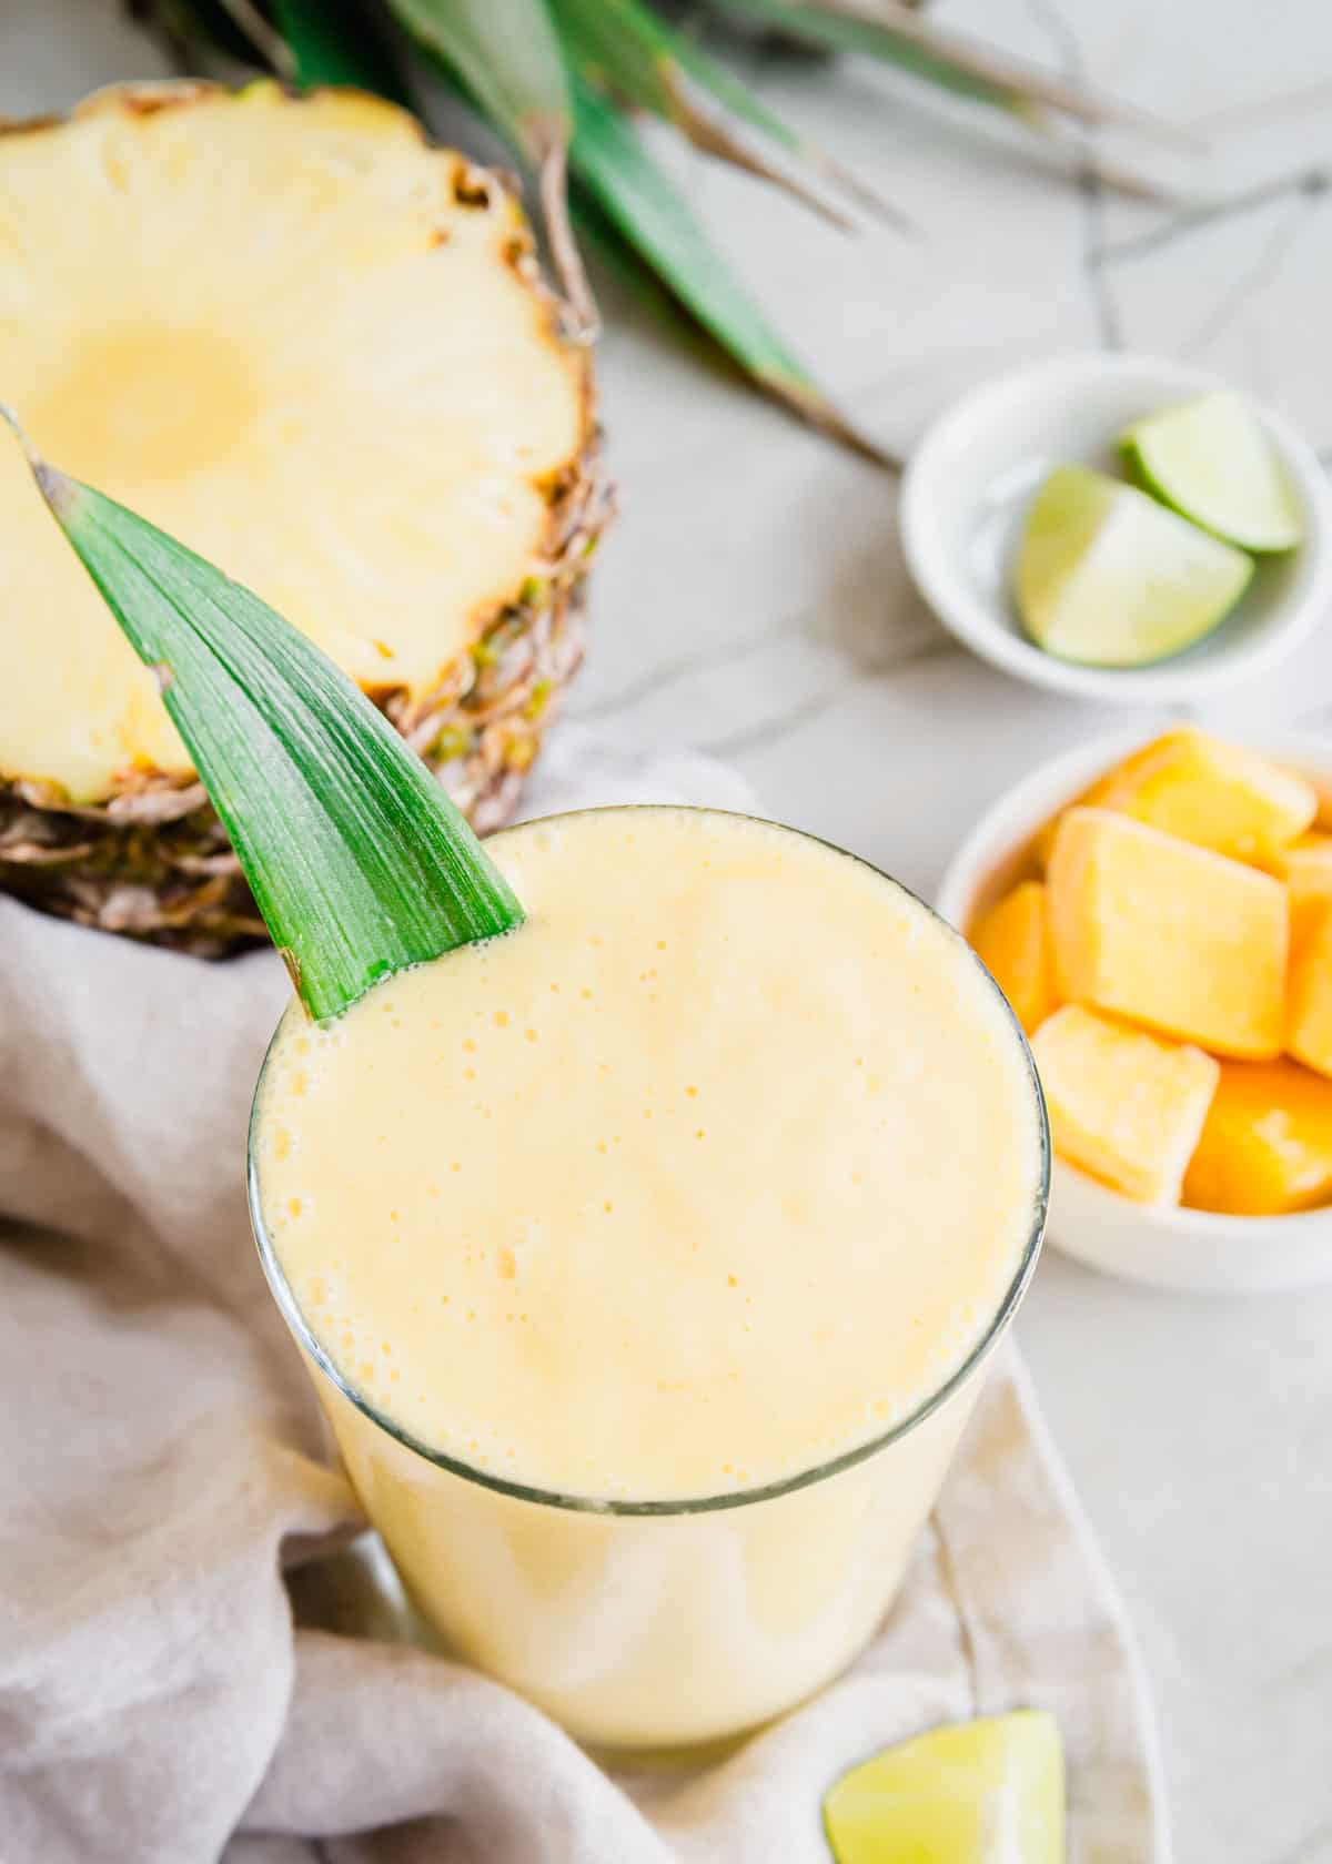
[[[401,110],[112,89],[0,138],[0,397],[58,466],[319,641],[481,829],[580,660],[586,350],[498,177]],[[261,934],[153,675],[0,442],[0,884]]]

